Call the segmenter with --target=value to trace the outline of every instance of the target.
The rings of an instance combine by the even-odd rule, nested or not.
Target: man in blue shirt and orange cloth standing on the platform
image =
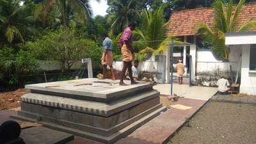
[[[110,67],[112,79],[115,78],[114,70],[113,70],[113,41],[108,37],[108,35],[104,34],[103,37],[103,54],[101,58],[102,68],[103,68],[103,79],[106,78],[106,70],[107,67]]]

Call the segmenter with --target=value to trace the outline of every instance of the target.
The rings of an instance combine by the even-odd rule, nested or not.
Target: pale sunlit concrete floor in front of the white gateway
[[[161,95],[170,95],[170,84],[157,84],[154,89]],[[173,84],[173,93],[188,99],[209,100],[216,92],[218,92],[217,88]]]

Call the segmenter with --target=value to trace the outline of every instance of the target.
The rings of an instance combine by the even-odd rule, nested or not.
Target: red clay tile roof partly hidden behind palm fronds
[[[248,22],[249,20],[256,20],[256,3],[244,4],[243,10],[238,16],[237,26],[241,26],[244,22]],[[173,12],[170,17],[170,24],[167,26],[167,35],[196,35],[195,26],[200,22],[205,22],[210,28],[212,28],[214,26],[214,9],[196,8],[193,10]]]

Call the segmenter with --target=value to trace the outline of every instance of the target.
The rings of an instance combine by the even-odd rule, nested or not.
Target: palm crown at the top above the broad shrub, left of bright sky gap
[[[43,0],[37,4],[34,17],[41,18],[44,27],[52,20],[67,27],[74,22],[85,22],[91,15],[92,8],[88,0]]]

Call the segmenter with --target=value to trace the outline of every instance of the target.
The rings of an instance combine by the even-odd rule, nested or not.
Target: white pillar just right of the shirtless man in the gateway
[[[192,58],[192,63],[190,65],[191,70],[191,82],[195,84],[196,77],[196,45],[190,45],[190,56]]]

